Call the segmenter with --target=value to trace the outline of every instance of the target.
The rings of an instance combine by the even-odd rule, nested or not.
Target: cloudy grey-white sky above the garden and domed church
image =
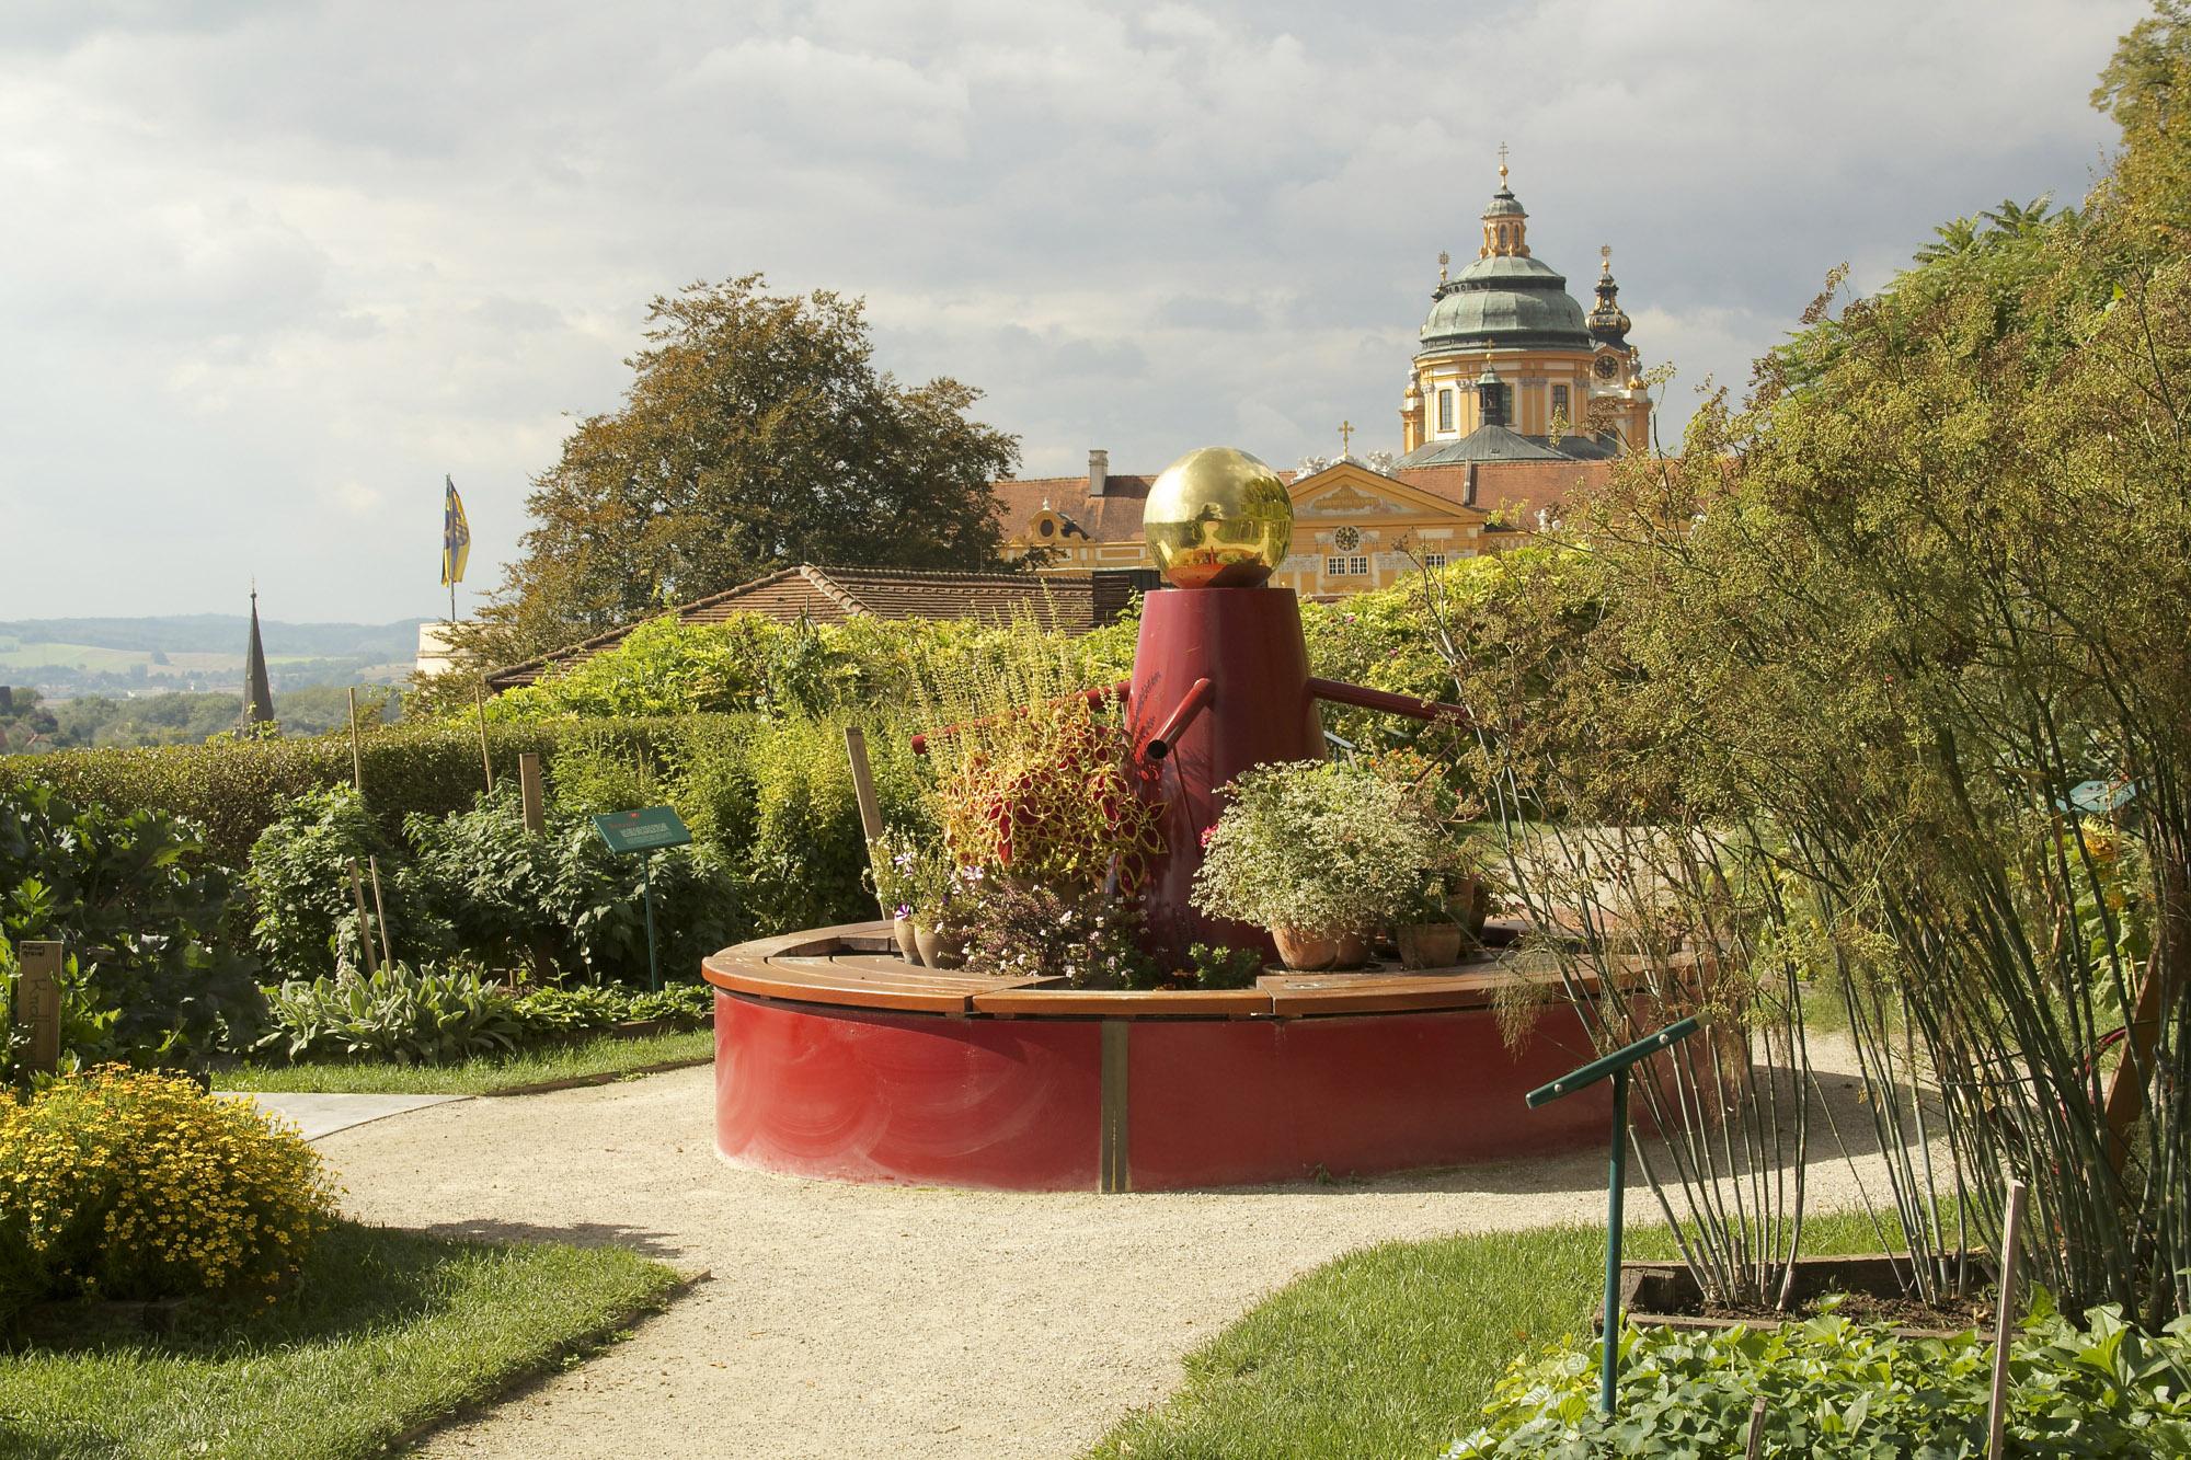
[[[646,300],[868,298],[1028,474],[1398,445],[1496,147],[1667,423],[1849,261],[2055,193],[2136,0],[0,0],[0,618],[436,614]]]

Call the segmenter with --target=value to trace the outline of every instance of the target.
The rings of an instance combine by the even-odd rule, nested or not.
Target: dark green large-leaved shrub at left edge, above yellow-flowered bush
[[[79,807],[48,787],[0,787],[0,976],[13,1013],[15,947],[68,945],[64,1043],[72,1063],[193,1065],[228,1024],[259,1015],[254,960],[217,932],[234,888],[197,829],[151,811]]]

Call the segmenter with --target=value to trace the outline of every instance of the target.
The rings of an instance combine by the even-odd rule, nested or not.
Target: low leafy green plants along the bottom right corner
[[[1518,1359],[1488,1423],[1446,1460],[1740,1456],[1766,1401],[1764,1456],[1983,1456],[1992,1344],[1902,1339],[1825,1313],[1783,1328],[1624,1328],[1613,1421],[1597,1344]],[[2138,1333],[2121,1309],[2077,1328],[2040,1302],[2009,1357],[2007,1453],[2191,1456],[2191,1322]]]

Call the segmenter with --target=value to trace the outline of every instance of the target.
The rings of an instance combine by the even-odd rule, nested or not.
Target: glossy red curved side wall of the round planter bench
[[[1523,1094],[1582,1063],[1556,1006],[1518,1054],[1490,1011],[1133,1019],[1135,1190],[1534,1155],[1599,1144],[1610,1094]],[[716,1147],[846,1182],[1093,1190],[1093,1019],[949,1019],[716,993]]]

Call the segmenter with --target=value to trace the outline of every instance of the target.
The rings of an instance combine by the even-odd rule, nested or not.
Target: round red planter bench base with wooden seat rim
[[[706,960],[716,1149],[837,1182],[1177,1190],[1602,1144],[1610,1087],[1527,1109],[1591,1057],[1567,1000],[1510,1050],[1479,962],[1271,973],[1207,993],[914,969],[883,925]]]

